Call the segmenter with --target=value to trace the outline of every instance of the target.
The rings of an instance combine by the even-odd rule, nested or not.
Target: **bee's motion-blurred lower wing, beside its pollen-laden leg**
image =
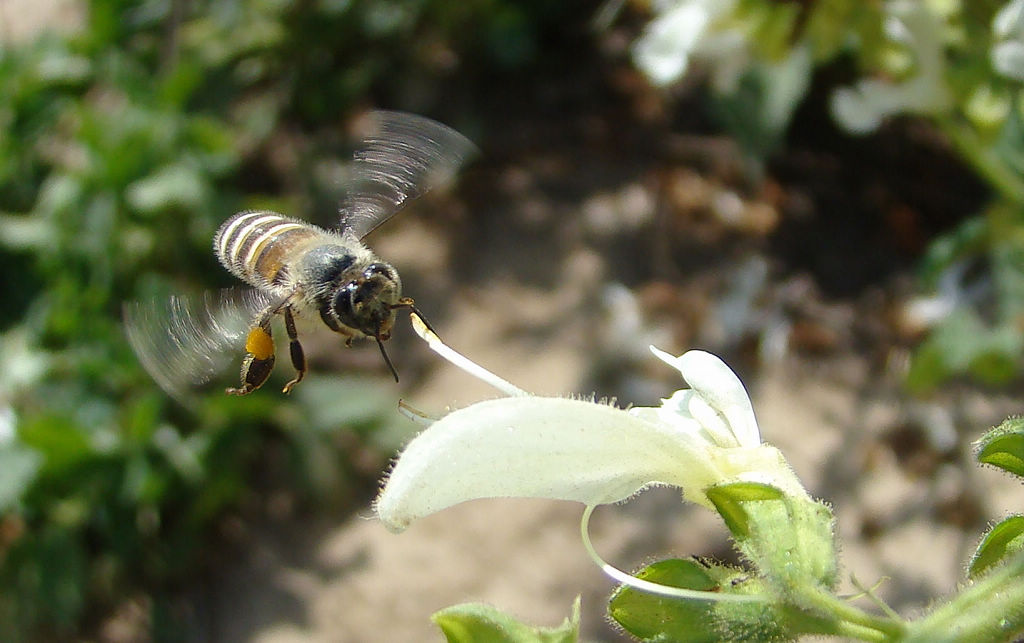
[[[230,289],[127,304],[125,330],[146,372],[182,401],[231,361],[242,363],[249,327],[269,301],[259,291]]]

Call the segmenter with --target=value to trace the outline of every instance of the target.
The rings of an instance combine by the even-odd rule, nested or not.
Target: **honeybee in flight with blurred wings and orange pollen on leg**
[[[126,308],[129,342],[165,390],[180,397],[188,386],[208,381],[245,337],[242,384],[226,392],[253,392],[273,369],[271,322],[279,315],[295,368],[284,392],[306,373],[296,318],[318,316],[346,345],[373,338],[398,379],[384,341],[391,336],[397,310],[419,311],[412,299],[402,297],[394,266],[361,240],[409,201],[450,180],[475,147],[462,134],[420,116],[373,112],[366,121],[369,131],[353,156],[338,229],[265,210],[239,212],[217,230],[213,250],[252,289],[207,297],[202,304],[172,297],[166,305]]]

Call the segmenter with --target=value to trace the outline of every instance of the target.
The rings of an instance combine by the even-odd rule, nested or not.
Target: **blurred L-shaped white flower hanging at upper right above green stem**
[[[952,104],[943,78],[942,17],[918,0],[887,2],[885,12],[886,35],[910,50],[916,74],[902,83],[864,79],[853,88],[837,90],[833,116],[851,132],[869,132],[886,117],[903,112],[938,114]]]

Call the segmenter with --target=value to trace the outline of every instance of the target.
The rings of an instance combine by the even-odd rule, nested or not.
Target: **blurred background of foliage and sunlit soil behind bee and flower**
[[[400,383],[329,335],[290,396],[284,363],[174,401],[125,340],[126,303],[232,285],[232,213],[334,224],[372,109],[480,148],[368,239],[449,343],[624,405],[681,387],[649,344],[714,351],[834,504],[844,577],[951,592],[1020,498],[969,458],[1021,412],[1020,5],[0,0],[0,638],[440,640],[447,605],[555,625],[579,594],[586,640],[626,640],[580,507],[372,519],[399,398],[498,394],[404,318]],[[655,489],[594,538],[734,559],[706,514]]]

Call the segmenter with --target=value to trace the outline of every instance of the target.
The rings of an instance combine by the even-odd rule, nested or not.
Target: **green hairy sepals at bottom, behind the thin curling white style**
[[[729,565],[669,559],[644,567],[637,578],[714,594],[761,597],[733,602],[671,598],[621,586],[608,614],[627,632],[651,643],[784,641],[804,634],[830,634],[834,624],[772,601],[765,583]]]

